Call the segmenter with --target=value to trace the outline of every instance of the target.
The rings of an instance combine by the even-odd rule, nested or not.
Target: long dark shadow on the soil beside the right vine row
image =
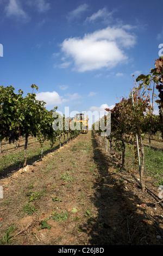
[[[158,230],[149,224],[137,205],[143,204],[133,194],[124,190],[124,180],[116,179],[117,164],[102,153],[96,135],[92,133],[93,160],[97,164],[96,195],[92,198],[98,217],[88,218],[86,229],[91,245],[161,245],[156,239]],[[108,170],[109,169],[109,170]],[[126,185],[127,186],[127,185]],[[137,188],[139,192],[139,188]],[[155,220],[156,221],[156,220]],[[162,241],[162,239],[160,239]]]

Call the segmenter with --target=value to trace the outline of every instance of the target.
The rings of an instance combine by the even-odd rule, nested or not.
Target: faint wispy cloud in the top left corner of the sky
[[[17,20],[23,22],[30,21],[28,14],[22,9],[20,2],[17,0],[9,0],[9,4],[5,8],[7,17],[16,17]]]

